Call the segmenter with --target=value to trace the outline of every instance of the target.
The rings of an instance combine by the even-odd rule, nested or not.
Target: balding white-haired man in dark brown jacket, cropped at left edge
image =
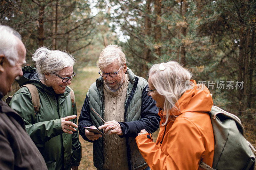
[[[1,169],[47,169],[44,158],[28,136],[25,125],[2,100],[12,90],[14,79],[23,75],[26,48],[20,34],[0,25],[0,167]]]

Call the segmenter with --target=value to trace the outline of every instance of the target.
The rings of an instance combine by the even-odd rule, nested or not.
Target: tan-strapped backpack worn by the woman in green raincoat
[[[26,85],[22,85],[20,88],[22,88],[22,87],[27,87],[29,92],[31,93],[31,100],[32,100],[34,110],[35,110],[35,115],[36,115],[40,108],[40,98],[39,98],[38,90],[35,85],[30,84],[30,83],[28,83]],[[71,98],[72,108],[74,108],[75,94],[74,94],[74,91],[72,90],[72,88],[70,88],[69,86],[67,86],[67,87],[70,89],[70,98]],[[5,100],[5,103],[7,103],[8,106],[10,104],[10,101],[12,100],[12,96],[8,96]]]

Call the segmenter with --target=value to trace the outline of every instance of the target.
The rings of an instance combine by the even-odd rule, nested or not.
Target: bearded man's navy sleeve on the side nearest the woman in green
[[[78,131],[79,131],[79,134],[84,138],[84,140],[88,142],[94,142],[94,141],[89,140],[85,136],[84,126],[90,127],[92,125],[93,124],[90,116],[89,100],[88,100],[88,96],[86,95],[86,98],[84,100],[84,105],[82,107],[81,114],[78,119]]]

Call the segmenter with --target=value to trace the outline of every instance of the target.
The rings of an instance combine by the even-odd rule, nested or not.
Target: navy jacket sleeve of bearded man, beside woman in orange
[[[141,94],[141,115],[140,120],[132,122],[119,122],[123,131],[123,135],[119,137],[136,137],[140,130],[145,129],[148,133],[153,133],[159,128],[160,116],[156,101],[148,96],[146,89]]]

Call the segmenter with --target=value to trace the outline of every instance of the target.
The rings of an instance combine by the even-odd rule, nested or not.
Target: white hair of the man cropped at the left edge
[[[0,54],[3,54],[13,66],[18,61],[18,39],[21,36],[9,26],[0,25]]]

